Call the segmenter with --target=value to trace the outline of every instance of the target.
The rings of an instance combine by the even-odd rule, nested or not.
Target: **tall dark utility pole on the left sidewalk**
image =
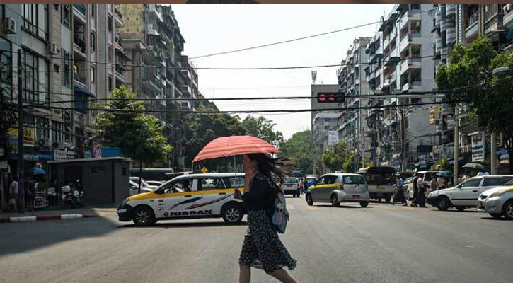
[[[22,89],[21,49],[18,49],[18,190],[25,190],[25,161],[23,160],[23,89]],[[19,194],[24,196],[25,194]],[[25,200],[21,197],[20,212],[25,212]]]

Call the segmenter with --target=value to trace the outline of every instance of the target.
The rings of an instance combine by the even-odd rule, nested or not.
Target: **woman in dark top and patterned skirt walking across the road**
[[[234,197],[242,199],[248,211],[248,230],[238,259],[239,283],[250,282],[250,267],[263,269],[280,282],[297,282],[282,268],[286,266],[293,270],[296,267],[296,260],[279,240],[270,219],[270,212],[273,211],[279,190],[276,183],[284,178],[284,173],[275,165],[275,160],[265,154],[243,156],[246,173],[243,195],[238,189],[234,192]]]

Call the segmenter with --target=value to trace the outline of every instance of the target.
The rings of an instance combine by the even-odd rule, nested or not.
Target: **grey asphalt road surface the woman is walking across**
[[[513,221],[475,211],[288,199],[300,282],[512,282]],[[246,226],[94,219],[0,224],[0,282],[238,282]],[[253,270],[253,282],[277,282]]]

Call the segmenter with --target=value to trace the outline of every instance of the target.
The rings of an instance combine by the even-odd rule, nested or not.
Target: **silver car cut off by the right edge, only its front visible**
[[[513,219],[513,180],[485,190],[478,198],[478,210],[488,212],[493,218]]]

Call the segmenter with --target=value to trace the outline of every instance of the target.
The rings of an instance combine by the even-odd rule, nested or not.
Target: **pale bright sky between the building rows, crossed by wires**
[[[313,37],[255,50],[195,59],[205,54],[236,50],[325,33],[379,21],[393,4],[172,4],[185,38],[183,54],[195,67],[292,67],[340,64],[361,36],[374,36],[378,25]],[[317,84],[336,84],[338,67],[285,70],[197,70],[200,92],[206,98],[309,96],[311,71]],[[309,109],[310,100],[215,101],[219,110]],[[246,114],[238,114],[241,118]],[[310,113],[263,113],[289,139],[310,129]]]

